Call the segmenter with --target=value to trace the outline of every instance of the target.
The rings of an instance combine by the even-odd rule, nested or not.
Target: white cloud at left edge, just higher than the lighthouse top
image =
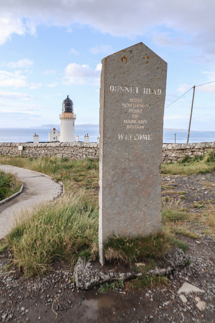
[[[27,86],[25,79],[24,75],[20,75],[20,71],[15,71],[14,73],[0,71],[0,86],[24,87]]]

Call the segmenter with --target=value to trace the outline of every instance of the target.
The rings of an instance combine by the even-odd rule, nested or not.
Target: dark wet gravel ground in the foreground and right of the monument
[[[188,198],[183,201],[191,212],[197,211],[191,206],[194,201],[214,200],[215,186],[201,183],[215,183],[215,173],[163,176],[162,181],[169,185],[175,181],[178,184],[176,191],[187,192]],[[164,193],[164,196],[167,195]],[[202,212],[202,209],[198,211]],[[210,234],[203,234],[205,229],[204,224],[193,222],[192,231],[200,234],[201,239],[179,237],[189,245],[187,253],[191,264],[171,273],[169,286],[142,291],[118,290],[100,294],[95,288],[83,292],[72,283],[73,268],[68,262],[60,261],[53,264],[47,276],[25,278],[15,267],[9,272],[3,270],[12,256],[6,251],[0,255],[0,320],[32,323],[215,322],[215,239]],[[178,294],[185,282],[204,292]],[[206,303],[203,310],[197,307],[200,300]]]

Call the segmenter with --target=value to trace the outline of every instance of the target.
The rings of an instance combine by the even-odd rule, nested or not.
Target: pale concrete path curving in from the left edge
[[[22,193],[13,200],[0,205],[0,238],[7,234],[14,224],[15,212],[43,200],[53,200],[63,193],[62,183],[54,182],[51,177],[39,172],[30,171],[9,165],[0,165],[4,172],[16,173],[24,185]]]

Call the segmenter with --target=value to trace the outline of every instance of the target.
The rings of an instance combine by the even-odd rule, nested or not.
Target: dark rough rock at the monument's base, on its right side
[[[189,261],[189,256],[184,253],[179,247],[174,247],[172,250],[168,251],[164,257],[165,267],[156,267],[147,272],[147,275],[169,275],[173,270],[179,270],[185,267]]]

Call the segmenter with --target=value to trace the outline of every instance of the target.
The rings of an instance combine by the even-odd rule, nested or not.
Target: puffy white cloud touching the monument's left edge
[[[100,71],[94,70],[89,65],[70,63],[64,71],[65,84],[97,85],[100,81]]]

